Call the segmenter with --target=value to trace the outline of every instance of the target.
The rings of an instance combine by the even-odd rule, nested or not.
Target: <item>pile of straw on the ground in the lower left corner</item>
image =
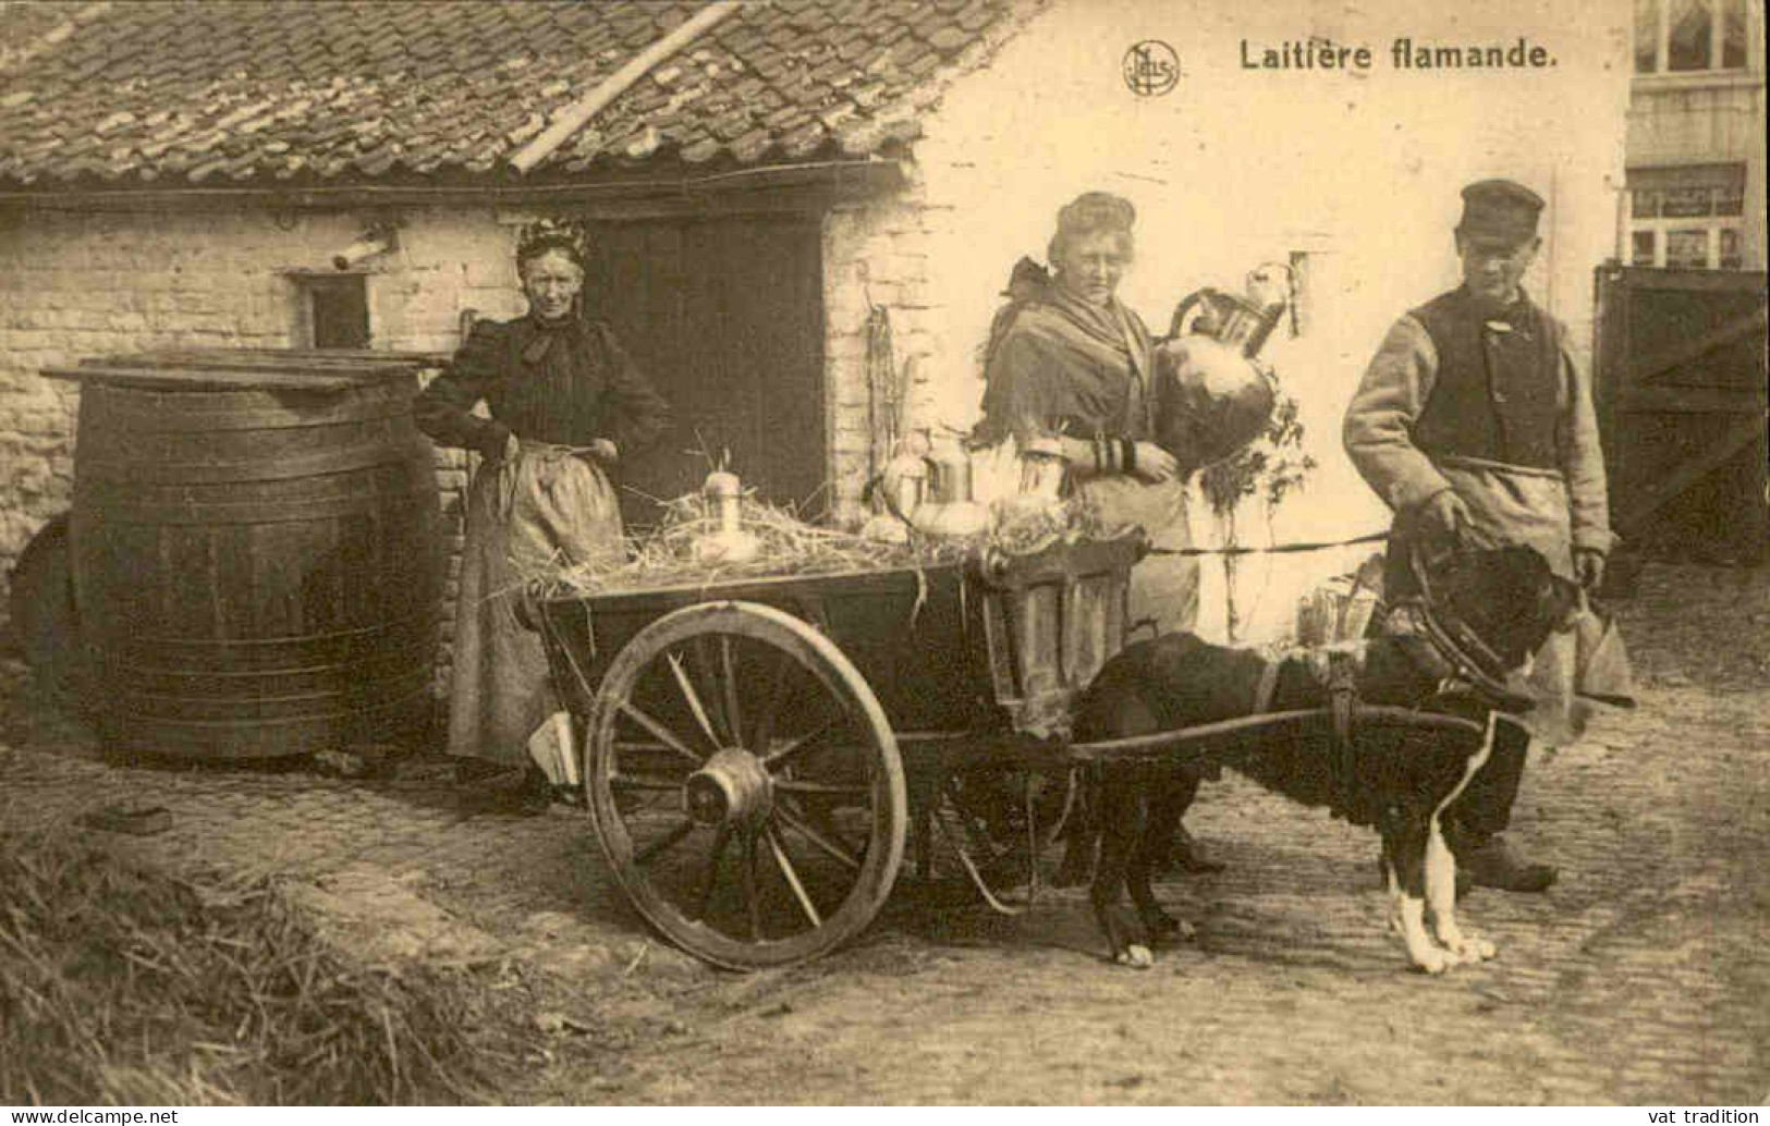
[[[0,834],[0,1103],[485,1101],[489,1027],[462,976],[354,965],[273,885]]]

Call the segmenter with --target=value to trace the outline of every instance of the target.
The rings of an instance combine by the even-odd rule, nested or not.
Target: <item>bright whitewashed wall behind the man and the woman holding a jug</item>
[[[1202,285],[1239,289],[1248,269],[1308,251],[1310,329],[1269,358],[1301,404],[1320,469],[1280,513],[1280,540],[1329,538],[1386,524],[1386,512],[1340,453],[1340,414],[1386,326],[1457,282],[1451,227],[1458,188],[1510,175],[1551,202],[1529,285],[1589,349],[1591,271],[1614,246],[1628,101],[1628,16],[1616,0],[1535,11],[1510,0],[1358,5],[1278,0],[1064,0],[1032,18],[993,66],[959,80],[915,145],[903,200],[832,221],[832,372],[857,388],[858,359],[839,338],[864,322],[841,297],[862,269],[892,306],[899,359],[919,370],[922,423],[965,427],[977,414],[977,347],[1020,255],[1043,258],[1058,205],[1108,189],[1138,207],[1138,262],[1122,296],[1154,326]],[[1255,73],[1239,41],[1322,35],[1368,42],[1368,73]],[[1512,42],[1528,35],[1556,66],[1542,71],[1407,73],[1389,41]],[[1126,48],[1161,39],[1182,80],[1136,97],[1120,80]],[[848,404],[848,405],[843,405]],[[858,460],[864,395],[839,397],[832,425],[844,494]],[[864,427],[860,428],[864,432]],[[1264,528],[1255,517],[1251,528]],[[1195,535],[1211,521],[1195,506]],[[1366,549],[1368,551],[1368,549]],[[1296,597],[1361,552],[1294,556],[1266,584],[1251,639],[1274,639]],[[1221,593],[1207,567],[1207,632],[1221,632]]]

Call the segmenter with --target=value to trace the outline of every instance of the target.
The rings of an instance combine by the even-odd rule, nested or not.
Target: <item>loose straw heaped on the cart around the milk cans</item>
[[[712,586],[740,579],[811,577],[871,570],[922,570],[959,563],[982,549],[1034,554],[1057,540],[1110,538],[1097,512],[1080,501],[1053,508],[993,506],[989,529],[970,538],[931,538],[910,533],[889,544],[839,528],[820,528],[752,494],[740,497],[743,531],[759,540],[754,559],[710,563],[696,556],[696,542],[719,528],[713,503],[699,492],[664,503],[664,519],[644,535],[627,536],[625,554],[549,567],[524,575],[543,597],[607,595],[671,586]]]

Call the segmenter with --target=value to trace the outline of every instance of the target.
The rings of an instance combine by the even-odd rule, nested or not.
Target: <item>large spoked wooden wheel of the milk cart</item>
[[[604,675],[584,754],[621,887],[715,965],[816,958],[897,878],[897,740],[855,666],[793,614],[704,602],[643,629]]]

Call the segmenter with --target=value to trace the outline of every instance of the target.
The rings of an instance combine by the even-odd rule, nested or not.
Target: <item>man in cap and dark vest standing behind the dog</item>
[[[1420,593],[1416,552],[1458,542],[1536,547],[1586,590],[1604,577],[1612,536],[1591,382],[1566,329],[1520,285],[1542,246],[1542,209],[1513,181],[1462,189],[1462,285],[1395,322],[1347,407],[1345,451],[1395,512],[1389,607]],[[1501,724],[1489,765],[1446,813],[1446,837],[1476,885],[1554,883],[1554,868],[1522,860],[1499,836],[1528,745],[1529,735]]]

